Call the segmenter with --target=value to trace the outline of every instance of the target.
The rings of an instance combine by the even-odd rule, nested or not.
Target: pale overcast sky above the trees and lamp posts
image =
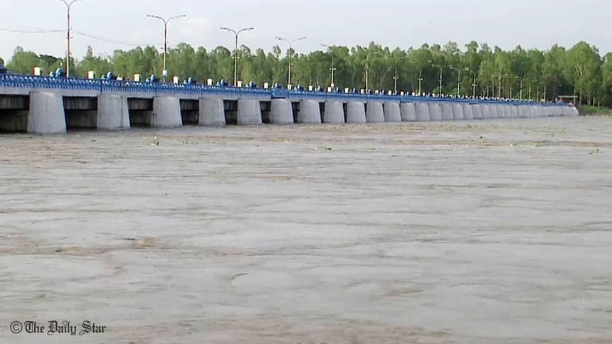
[[[65,29],[65,5],[60,0],[7,0],[0,28]],[[73,6],[73,55],[81,58],[88,45],[96,55],[133,48],[161,46],[161,21],[146,14],[187,18],[169,26],[169,43],[187,42],[208,49],[233,46],[231,33],[219,26],[255,31],[241,35],[241,44],[270,48],[275,36],[296,38],[298,52],[329,45],[367,45],[376,41],[392,48],[423,43],[486,42],[505,49],[550,48],[587,41],[600,53],[612,51],[611,0],[85,0]],[[0,32],[0,57],[8,60],[14,48],[51,55],[65,54],[65,33]],[[281,45],[283,50],[285,46]]]

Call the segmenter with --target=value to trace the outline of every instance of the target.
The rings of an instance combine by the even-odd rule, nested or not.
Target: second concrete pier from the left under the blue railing
[[[120,95],[97,96],[97,129],[130,129],[130,110],[127,97]]]

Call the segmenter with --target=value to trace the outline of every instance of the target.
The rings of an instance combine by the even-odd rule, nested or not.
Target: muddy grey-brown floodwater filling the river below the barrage
[[[611,341],[611,118],[0,135],[0,343]]]

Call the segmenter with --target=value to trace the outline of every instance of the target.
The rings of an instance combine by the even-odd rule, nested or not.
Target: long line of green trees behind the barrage
[[[470,42],[463,49],[457,43],[423,45],[421,48],[391,50],[376,43],[368,46],[331,46],[325,51],[285,53],[275,46],[266,53],[242,45],[237,52],[219,46],[213,50],[180,43],[167,55],[170,76],[233,80],[233,58],[238,54],[238,80],[263,85],[287,82],[292,61],[294,85],[329,86],[334,68],[338,87],[371,90],[403,90],[418,93],[459,94],[481,97],[522,97],[554,101],[559,95],[576,95],[581,104],[612,104],[612,53],[600,55],[589,43],[566,49],[525,50],[517,46],[506,51]],[[112,56],[95,56],[92,48],[84,58],[70,60],[72,75],[85,77],[112,71],[130,78],[161,74],[162,53],[153,46],[115,50]],[[14,73],[31,73],[34,67],[46,72],[63,67],[65,60],[38,55],[17,47],[7,68]],[[441,75],[441,77],[440,77]],[[441,80],[441,90],[440,90]]]

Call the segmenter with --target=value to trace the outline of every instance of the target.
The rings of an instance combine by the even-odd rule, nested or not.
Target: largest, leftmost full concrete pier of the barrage
[[[63,134],[66,132],[64,103],[60,94],[30,93],[28,132],[34,134]]]

